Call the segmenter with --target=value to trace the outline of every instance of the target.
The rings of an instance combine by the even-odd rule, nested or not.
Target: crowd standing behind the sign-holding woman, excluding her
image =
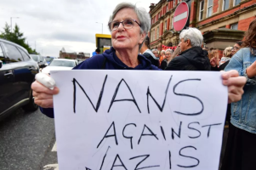
[[[236,70],[239,76],[246,77],[242,99],[228,105],[229,134],[221,170],[256,169],[256,19],[250,24],[244,41],[226,47],[221,57],[219,49],[202,48],[202,42],[195,38],[200,35],[196,28],[188,28],[180,33],[176,52],[167,49],[159,54],[154,49],[159,67],[170,71]]]

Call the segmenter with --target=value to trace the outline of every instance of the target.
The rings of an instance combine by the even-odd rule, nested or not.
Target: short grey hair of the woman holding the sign
[[[132,9],[134,9],[134,12],[136,13],[136,15],[139,19],[138,22],[141,26],[140,27],[140,33],[146,33],[147,34],[148,31],[150,31],[150,29],[151,29],[151,15],[148,12],[146,12],[145,8],[136,7],[136,5],[134,5],[132,3],[119,3],[117,5],[117,7],[114,9],[113,13],[111,14],[109,23],[114,20],[118,11],[120,11],[122,8],[132,8]],[[110,26],[109,26],[109,29],[111,31]]]

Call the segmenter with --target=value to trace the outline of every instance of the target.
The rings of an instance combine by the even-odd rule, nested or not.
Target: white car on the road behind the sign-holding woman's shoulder
[[[78,65],[76,59],[54,59],[50,65],[43,68],[43,73],[50,73],[50,71],[72,70],[74,66]]]

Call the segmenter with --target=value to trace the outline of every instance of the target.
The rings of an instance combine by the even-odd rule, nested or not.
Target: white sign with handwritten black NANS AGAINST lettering
[[[51,71],[60,170],[216,170],[220,72]]]

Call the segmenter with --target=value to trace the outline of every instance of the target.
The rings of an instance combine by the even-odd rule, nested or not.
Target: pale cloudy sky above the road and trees
[[[160,0],[128,0],[150,10]],[[123,0],[0,0],[0,31],[5,23],[17,24],[26,42],[43,56],[66,52],[94,52],[95,34],[111,34],[107,23]],[[18,18],[17,18],[18,17]],[[98,22],[98,23],[96,23]]]

